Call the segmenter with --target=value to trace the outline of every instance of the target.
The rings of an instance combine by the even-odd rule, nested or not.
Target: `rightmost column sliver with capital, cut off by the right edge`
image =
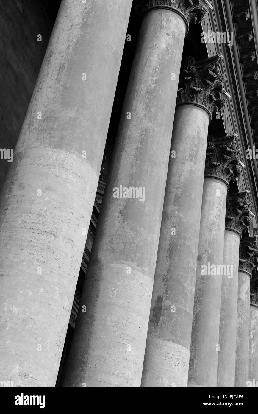
[[[250,289],[249,381],[258,386],[258,277],[255,273]],[[255,384],[255,385],[254,385]],[[250,383],[247,385],[251,386]]]

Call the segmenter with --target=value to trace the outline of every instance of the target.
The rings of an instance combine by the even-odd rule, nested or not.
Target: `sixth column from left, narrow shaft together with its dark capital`
[[[246,387],[249,378],[250,279],[258,262],[258,236],[242,238],[239,248],[239,272],[236,319],[235,387]]]

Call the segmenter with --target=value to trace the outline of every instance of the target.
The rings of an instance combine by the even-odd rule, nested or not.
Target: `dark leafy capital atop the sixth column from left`
[[[258,236],[242,238],[239,246],[239,270],[252,273],[258,264]]]

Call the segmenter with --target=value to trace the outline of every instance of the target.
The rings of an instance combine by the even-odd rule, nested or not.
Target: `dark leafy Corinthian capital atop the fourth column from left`
[[[213,176],[234,182],[244,164],[239,160],[241,150],[236,148],[238,135],[219,138],[209,136],[205,159],[205,176]]]

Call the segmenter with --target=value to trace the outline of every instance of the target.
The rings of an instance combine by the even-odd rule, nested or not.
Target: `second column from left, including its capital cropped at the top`
[[[207,12],[203,2],[142,4],[65,386],[141,385],[186,17]]]

